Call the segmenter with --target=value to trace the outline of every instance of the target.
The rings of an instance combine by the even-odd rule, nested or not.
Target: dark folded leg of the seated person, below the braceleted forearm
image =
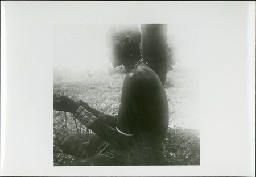
[[[89,136],[89,139],[88,139]],[[89,142],[88,142],[89,141]],[[66,154],[80,157],[76,161],[55,166],[117,166],[125,165],[121,158],[109,152],[109,145],[96,134],[72,134],[61,142]],[[84,155],[83,155],[84,154]]]

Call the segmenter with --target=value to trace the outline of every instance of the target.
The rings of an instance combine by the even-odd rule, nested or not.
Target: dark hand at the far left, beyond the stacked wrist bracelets
[[[77,104],[67,96],[53,96],[53,109],[55,109],[56,111],[75,113],[78,108],[79,104]]]

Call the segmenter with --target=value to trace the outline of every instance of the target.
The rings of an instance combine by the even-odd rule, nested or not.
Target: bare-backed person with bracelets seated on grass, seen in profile
[[[137,26],[112,27],[107,35],[113,67],[123,65],[126,70],[118,115],[106,115],[85,102],[55,96],[55,110],[73,113],[97,135],[90,143],[102,140],[93,157],[64,165],[160,165],[164,154],[161,145],[169,120],[162,82],[141,59],[141,33]]]

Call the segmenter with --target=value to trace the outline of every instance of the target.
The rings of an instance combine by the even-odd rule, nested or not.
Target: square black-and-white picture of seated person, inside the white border
[[[193,28],[59,24],[53,32],[54,166],[200,165]]]

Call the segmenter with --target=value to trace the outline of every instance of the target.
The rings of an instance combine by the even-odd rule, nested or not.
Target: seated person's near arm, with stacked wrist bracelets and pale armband
[[[79,115],[77,119],[79,119],[86,128],[92,129],[97,136],[118,149],[126,149],[126,147],[131,146],[131,141],[133,140],[133,120],[138,116],[136,99],[139,99],[135,98],[135,93],[136,95],[139,95],[139,87],[141,86],[133,74],[126,75],[122,87],[118,118],[96,111],[95,109],[90,108],[88,104],[82,104],[82,102],[80,102],[80,104],[87,109],[80,106],[75,115]],[[87,111],[92,111],[92,113],[87,113]],[[112,126],[110,124],[112,124]]]

